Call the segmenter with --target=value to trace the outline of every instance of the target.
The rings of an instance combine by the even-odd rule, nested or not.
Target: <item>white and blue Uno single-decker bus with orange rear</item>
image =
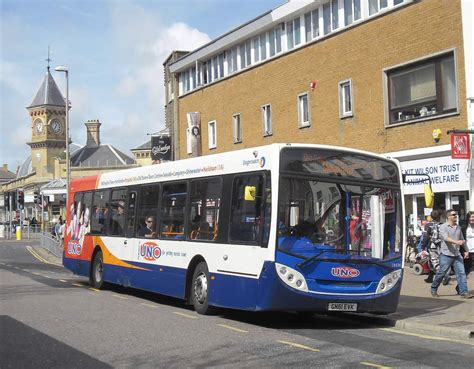
[[[396,160],[272,144],[73,180],[64,266],[214,307],[394,312],[404,206]]]

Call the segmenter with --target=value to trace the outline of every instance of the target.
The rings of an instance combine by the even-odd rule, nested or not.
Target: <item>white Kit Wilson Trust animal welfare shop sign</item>
[[[469,161],[450,156],[404,161],[402,173],[428,174],[434,192],[469,191]],[[405,194],[423,193],[423,184],[405,184]]]

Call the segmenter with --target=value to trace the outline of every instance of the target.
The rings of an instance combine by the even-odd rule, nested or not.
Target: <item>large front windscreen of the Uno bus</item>
[[[282,158],[278,250],[303,259],[400,257],[402,212],[400,191],[394,185],[396,166],[374,158],[356,163],[347,160],[353,159],[353,154],[343,155],[346,157],[338,153],[336,175],[322,170],[330,165],[331,171],[335,170],[333,153],[291,152]],[[317,158],[318,166],[298,162],[308,157]],[[329,157],[332,164],[324,162]],[[293,169],[297,167],[299,174]]]

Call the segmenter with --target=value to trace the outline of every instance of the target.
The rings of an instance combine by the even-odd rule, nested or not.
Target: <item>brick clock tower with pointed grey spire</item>
[[[33,102],[31,117],[31,165],[39,180],[54,179],[54,159],[65,158],[65,99],[49,71],[49,65]]]

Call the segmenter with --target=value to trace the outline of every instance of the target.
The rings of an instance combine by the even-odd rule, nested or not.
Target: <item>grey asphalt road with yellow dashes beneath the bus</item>
[[[134,289],[98,291],[31,242],[0,241],[1,368],[472,367],[471,344],[364,320],[221,310]],[[422,332],[420,332],[422,333]]]

